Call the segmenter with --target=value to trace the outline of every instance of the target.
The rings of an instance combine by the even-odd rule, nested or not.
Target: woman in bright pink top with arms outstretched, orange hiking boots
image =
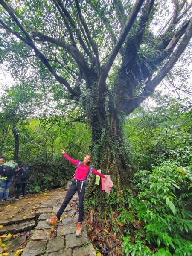
[[[74,179],[72,181],[72,184],[67,191],[67,195],[61,204],[60,209],[58,210],[58,213],[55,215],[54,218],[52,219],[47,219],[46,223],[51,226],[51,227],[56,227],[57,223],[64,212],[65,208],[67,207],[67,204],[69,204],[71,198],[73,195],[78,192],[78,197],[79,197],[79,216],[78,216],[78,223],[77,223],[77,229],[76,229],[76,237],[81,235],[81,230],[82,230],[82,222],[84,218],[84,194],[85,194],[85,187],[87,183],[87,176],[92,174],[92,172],[96,175],[99,175],[102,178],[108,177],[108,175],[102,175],[100,172],[97,172],[93,167],[91,166],[91,161],[92,161],[92,155],[87,154],[84,157],[84,160],[82,162],[79,162],[78,160],[74,160],[70,158],[63,150],[61,150],[63,153],[64,157],[67,158],[71,163],[74,163],[77,166],[76,172],[74,174]]]

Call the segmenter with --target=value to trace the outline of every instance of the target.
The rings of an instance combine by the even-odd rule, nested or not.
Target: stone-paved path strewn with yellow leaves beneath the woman
[[[0,256],[96,256],[85,224],[81,236],[75,236],[76,194],[57,228],[45,223],[58,211],[66,190],[56,189],[0,205]]]

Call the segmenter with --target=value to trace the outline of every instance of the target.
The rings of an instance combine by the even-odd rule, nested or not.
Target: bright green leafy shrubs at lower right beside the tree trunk
[[[140,244],[141,241],[137,239],[140,237],[151,244],[149,247],[158,248],[155,255],[191,255],[189,204],[192,195],[192,146],[179,148],[174,155],[159,159],[159,165],[154,166],[151,172],[140,170],[135,174],[138,194],[136,197],[130,196],[128,210],[121,210],[119,220],[129,226],[138,223],[140,228],[134,232],[134,242],[130,236],[124,238],[124,252],[153,254],[146,250],[146,242]]]

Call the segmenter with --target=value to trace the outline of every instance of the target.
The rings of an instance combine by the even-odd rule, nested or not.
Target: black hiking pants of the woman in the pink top
[[[82,186],[82,187],[81,187]],[[85,193],[85,187],[86,184],[81,181],[76,181],[75,179],[73,179],[72,184],[69,188],[69,190],[67,191],[67,195],[63,201],[63,203],[61,204],[60,209],[58,210],[57,213],[57,218],[60,219],[62,213],[64,212],[65,208],[67,207],[67,204],[69,204],[71,198],[73,197],[73,195],[75,194],[75,192],[78,192],[78,197],[79,197],[79,217],[78,217],[78,221],[79,222],[83,222],[83,217],[84,217],[84,193]]]

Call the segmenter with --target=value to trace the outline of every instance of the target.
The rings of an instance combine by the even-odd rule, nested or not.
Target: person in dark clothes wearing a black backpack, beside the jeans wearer
[[[17,187],[17,192],[16,192],[16,197],[13,198],[13,201],[19,200],[20,189],[22,189],[23,198],[25,198],[26,185],[29,181],[29,170],[28,170],[27,163],[26,162],[22,163],[21,168],[16,173],[18,173],[18,177],[15,182],[15,187]]]

